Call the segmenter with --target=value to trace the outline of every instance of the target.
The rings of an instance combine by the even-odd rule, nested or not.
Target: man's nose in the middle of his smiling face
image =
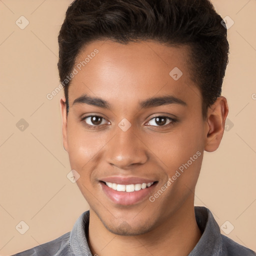
[[[147,161],[147,147],[139,135],[130,127],[123,131],[119,127],[106,145],[106,161],[120,169],[128,169],[131,165],[140,165]]]

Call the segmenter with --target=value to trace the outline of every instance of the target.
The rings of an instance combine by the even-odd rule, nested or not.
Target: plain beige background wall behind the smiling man
[[[204,154],[195,204],[208,207],[219,226],[228,220],[234,229],[227,236],[256,250],[256,1],[212,2],[234,20],[222,93],[229,127],[218,150]],[[57,34],[69,3],[0,0],[0,255],[59,237],[88,209],[66,177],[63,92],[46,98],[59,84]],[[24,29],[15,24],[21,15],[29,21]],[[16,127],[21,118],[29,125],[23,131]],[[29,226],[23,235],[15,228],[21,220]]]

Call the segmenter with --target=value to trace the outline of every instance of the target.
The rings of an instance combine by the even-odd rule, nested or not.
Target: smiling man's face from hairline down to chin
[[[142,234],[193,205],[209,129],[187,54],[106,40],[76,58],[63,144],[90,214],[113,233]]]

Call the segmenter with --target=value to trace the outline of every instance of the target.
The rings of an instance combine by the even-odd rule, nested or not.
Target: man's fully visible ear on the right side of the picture
[[[208,107],[204,143],[205,151],[213,152],[218,148],[224,133],[227,114],[227,100],[223,96],[217,97],[216,101]]]

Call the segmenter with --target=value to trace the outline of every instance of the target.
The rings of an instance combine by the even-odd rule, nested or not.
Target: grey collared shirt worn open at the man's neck
[[[195,218],[202,235],[188,256],[256,256],[256,253],[220,233],[209,209],[195,206]],[[89,211],[83,212],[71,231],[12,256],[92,256],[87,243]]]

